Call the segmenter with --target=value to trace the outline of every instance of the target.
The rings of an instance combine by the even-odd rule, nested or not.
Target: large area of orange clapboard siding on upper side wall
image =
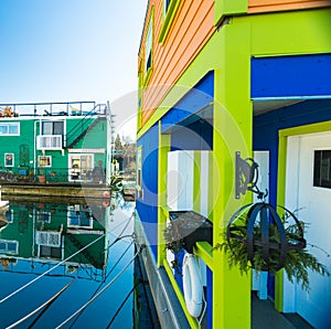
[[[150,1],[149,6],[139,62],[143,57],[146,32],[153,7],[153,72],[148,82],[148,88],[142,93],[142,125],[153,114],[171,86],[175,84],[215,31],[213,0],[182,0],[166,41],[161,44],[158,38],[163,20],[162,1]]]

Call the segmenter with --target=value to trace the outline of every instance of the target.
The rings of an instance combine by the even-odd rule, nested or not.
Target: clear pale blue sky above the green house
[[[136,91],[147,2],[1,0],[0,103],[111,103]]]

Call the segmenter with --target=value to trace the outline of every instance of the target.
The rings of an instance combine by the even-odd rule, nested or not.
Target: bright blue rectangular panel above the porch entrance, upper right
[[[331,54],[252,59],[252,98],[331,97]]]

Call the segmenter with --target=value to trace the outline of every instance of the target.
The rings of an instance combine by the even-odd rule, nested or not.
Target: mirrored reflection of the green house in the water
[[[62,275],[104,279],[111,208],[85,200],[14,201],[2,215],[8,221],[0,232],[2,270],[39,274],[61,263]],[[22,262],[30,266],[19,266]]]

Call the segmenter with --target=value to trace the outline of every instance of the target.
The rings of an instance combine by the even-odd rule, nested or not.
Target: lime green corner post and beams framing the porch
[[[220,3],[216,1],[218,15],[223,10]],[[243,6],[244,2],[238,3]],[[223,231],[234,211],[252,199],[247,195],[237,200],[234,193],[235,151],[241,151],[243,158],[252,155],[250,57],[331,53],[330,18],[331,9],[231,18],[227,24],[214,33],[139,131],[138,138],[159,121],[190,87],[207,72],[214,71],[214,148],[210,166],[210,219],[214,223],[214,243],[222,242]],[[162,162],[159,164],[160,193],[164,193],[166,189],[164,183],[160,184],[167,172],[166,155],[163,149],[160,158]],[[282,171],[279,173],[282,174]],[[166,209],[164,198],[159,199],[159,205]],[[167,210],[166,214],[164,211],[160,214],[159,220],[164,222],[164,217]],[[196,253],[213,270],[213,328],[249,328],[250,277],[229,269],[225,256],[205,244],[199,244]],[[158,264],[162,264],[162,259],[158,259]],[[168,273],[171,276],[171,272]],[[281,274],[279,276],[275,303],[280,310]],[[182,301],[180,289],[175,287],[175,291]],[[191,325],[196,326],[186,316]]]

